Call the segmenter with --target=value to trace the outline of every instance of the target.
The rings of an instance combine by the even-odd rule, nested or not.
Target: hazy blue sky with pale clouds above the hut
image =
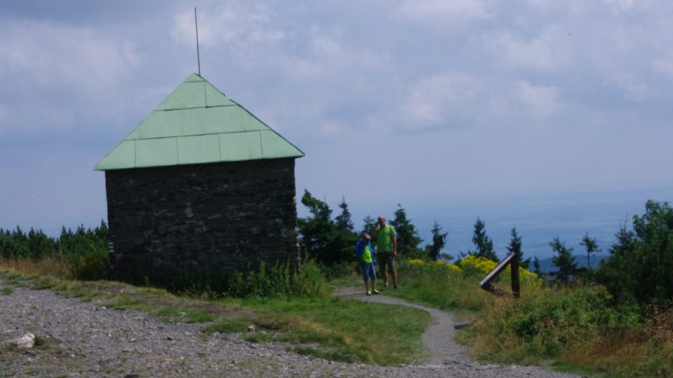
[[[299,196],[673,188],[670,1],[4,0],[0,228],[107,217],[93,167],[198,71],[194,6],[202,76],[306,153]]]

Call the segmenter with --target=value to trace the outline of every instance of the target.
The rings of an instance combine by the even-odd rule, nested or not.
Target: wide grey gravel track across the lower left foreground
[[[421,366],[334,363],[290,353],[287,344],[204,337],[203,325],[163,323],[102,302],[10,286],[0,276],[2,288],[12,293],[0,295],[0,377],[566,377],[536,367],[470,364],[463,352]],[[27,332],[43,345],[8,346]]]

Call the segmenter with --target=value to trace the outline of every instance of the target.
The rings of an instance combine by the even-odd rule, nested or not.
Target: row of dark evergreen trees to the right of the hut
[[[355,242],[362,232],[369,232],[376,226],[371,216],[365,217],[362,230],[356,231],[345,199],[341,200],[339,215],[331,218],[329,206],[304,190],[301,203],[311,213],[299,218],[299,242],[304,252],[323,265],[331,266],[341,262],[355,261]],[[519,266],[529,269],[550,281],[561,285],[594,284],[606,286],[614,300],[620,304],[634,303],[646,309],[651,306],[669,307],[673,303],[673,209],[668,202],[648,201],[645,214],[632,217],[632,228],[628,221],[620,225],[616,233],[617,243],[609,248],[608,258],[601,260],[592,269],[590,257],[601,251],[597,239],[588,232],[583,235],[580,245],[585,248],[587,267],[578,267],[573,248],[566,246],[558,237],[549,245],[555,253],[552,263],[554,272],[542,272],[536,257],[524,258],[522,237],[516,228],[510,232],[507,246],[509,253],[516,253]],[[397,232],[397,250],[400,258],[421,258],[426,260],[452,260],[452,256],[442,253],[447,241],[447,232],[435,221],[432,229],[433,240],[421,248],[423,240],[405,209],[397,204],[395,216],[389,221]],[[473,244],[475,249],[467,255],[477,255],[498,261],[493,241],[487,235],[486,224],[477,218],[474,224]],[[465,257],[460,253],[457,260]],[[532,265],[532,267],[531,267]]]

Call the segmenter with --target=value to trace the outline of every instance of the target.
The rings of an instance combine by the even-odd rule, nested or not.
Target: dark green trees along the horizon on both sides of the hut
[[[299,244],[306,256],[327,267],[354,262],[355,242],[362,232],[369,232],[376,226],[375,218],[365,217],[362,229],[355,230],[345,199],[341,200],[339,214],[334,218],[332,209],[308,190],[304,190],[301,204],[310,212],[306,218],[297,220]],[[432,242],[423,247],[420,246],[423,239],[419,237],[419,230],[400,204],[389,224],[397,232],[400,258],[452,259],[451,255],[442,253],[448,233],[442,232],[442,225],[437,221],[432,229]],[[16,230],[0,228],[0,258],[63,258],[73,262],[79,272],[76,276],[95,278],[102,274],[98,272],[100,269],[108,268],[105,264],[108,235],[104,221],[93,229],[83,225],[74,231],[63,227],[58,237],[49,237],[42,230],[33,228],[28,232],[20,227]],[[522,237],[516,228],[512,228],[510,236],[507,249],[509,253],[517,253],[519,265],[545,276],[537,257],[524,258]],[[588,262],[601,248],[588,233],[583,235],[580,243],[587,254],[586,268],[578,267],[573,248],[567,247],[558,237],[553,239],[550,248],[555,253],[552,263],[557,269],[547,278],[559,284],[599,283],[606,286],[619,303],[639,304],[641,308],[669,307],[673,301],[673,209],[669,203],[646,202],[645,213],[620,224],[616,238],[616,244],[609,248],[608,258],[601,260],[595,269]],[[493,241],[481,218],[474,224],[472,241],[475,249],[468,251],[468,255],[498,261]],[[461,253],[457,260],[464,256]]]

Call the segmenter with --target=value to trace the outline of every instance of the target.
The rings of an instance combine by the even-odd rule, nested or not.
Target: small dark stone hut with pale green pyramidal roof
[[[95,169],[118,279],[217,287],[299,262],[294,160],[304,153],[208,81],[186,78]]]

